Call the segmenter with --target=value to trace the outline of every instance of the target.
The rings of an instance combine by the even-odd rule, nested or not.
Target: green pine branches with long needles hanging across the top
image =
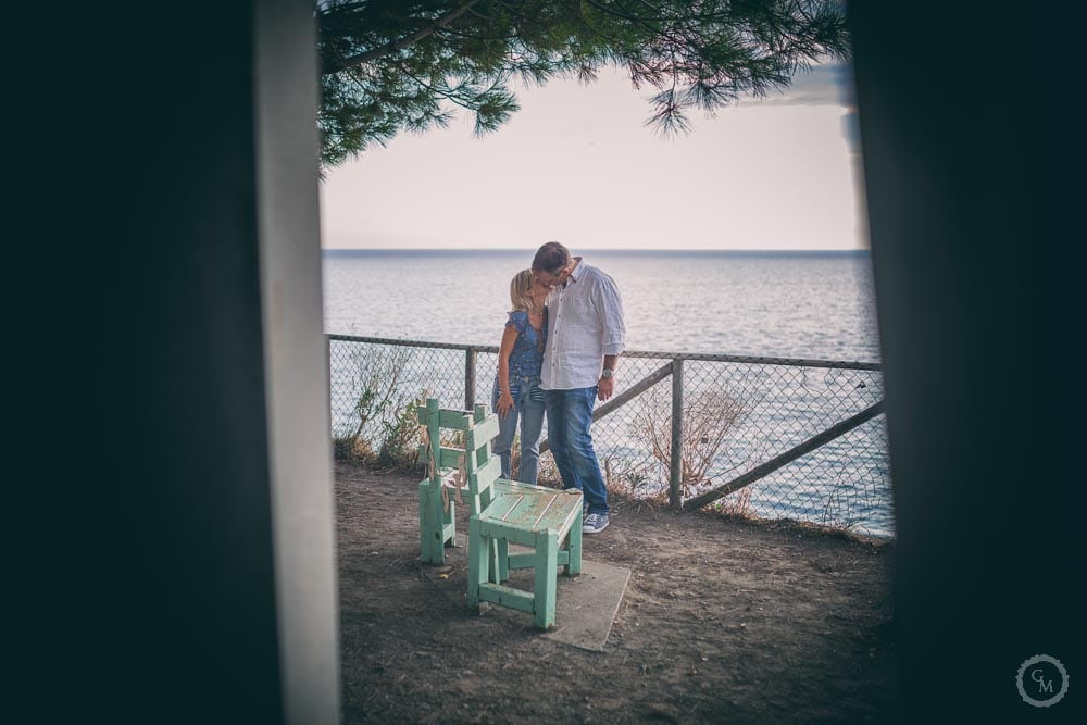
[[[497,128],[516,111],[499,88],[515,76],[542,85],[625,66],[636,89],[659,91],[646,125],[669,135],[689,128],[689,109],[712,113],[849,54],[841,0],[316,2],[326,165],[441,123],[451,107]]]

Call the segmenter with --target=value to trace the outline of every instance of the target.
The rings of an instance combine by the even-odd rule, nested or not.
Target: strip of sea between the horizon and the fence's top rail
[[[325,332],[497,346],[532,250],[326,250]],[[632,350],[877,362],[867,251],[575,250]]]

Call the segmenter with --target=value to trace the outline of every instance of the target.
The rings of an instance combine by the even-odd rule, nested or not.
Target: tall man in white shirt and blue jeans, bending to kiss
[[[592,450],[592,407],[615,388],[615,370],[626,328],[615,282],[558,241],[533,259],[536,278],[551,289],[540,388],[547,410],[548,442],[564,488],[585,496],[582,532],[608,528],[608,489]]]

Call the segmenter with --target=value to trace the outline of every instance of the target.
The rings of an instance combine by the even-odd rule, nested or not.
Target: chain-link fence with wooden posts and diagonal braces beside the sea
[[[426,397],[491,404],[496,347],[343,335],[329,335],[328,345],[341,458],[411,461],[412,404]],[[592,424],[609,488],[894,535],[878,364],[627,351],[616,380]],[[674,407],[683,411],[677,425]],[[558,478],[545,451],[541,483]]]

